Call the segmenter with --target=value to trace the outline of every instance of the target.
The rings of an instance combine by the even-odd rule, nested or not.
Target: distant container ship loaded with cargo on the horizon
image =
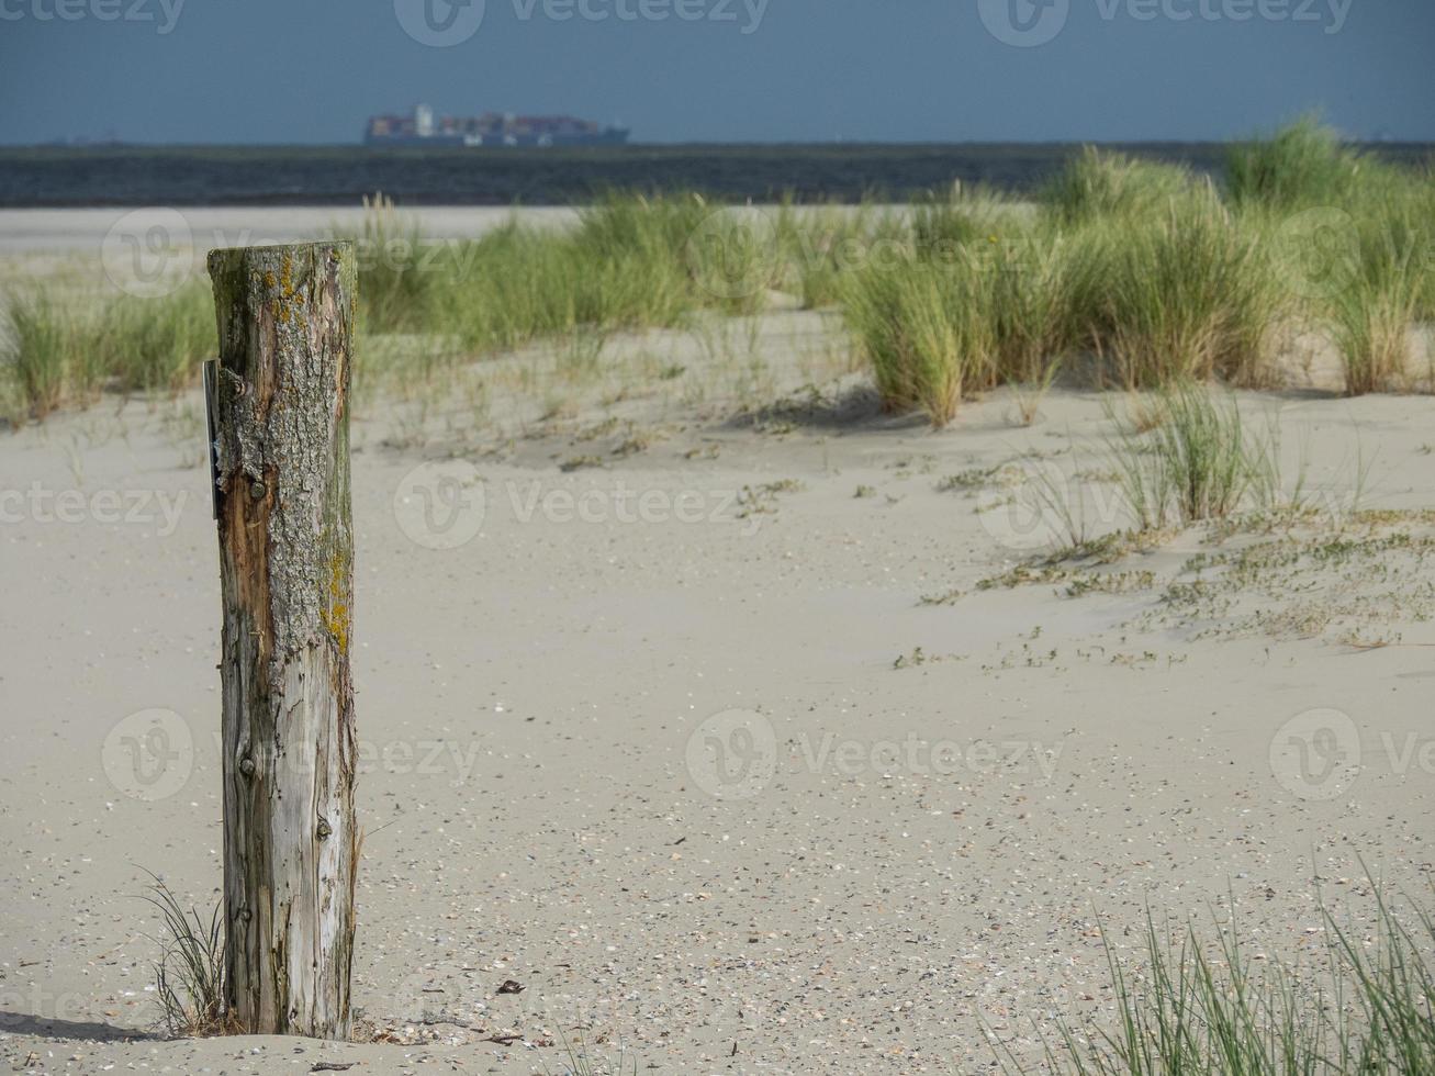
[[[408,116],[370,116],[369,146],[620,146],[627,128],[606,128],[573,116],[435,116],[428,105]]]

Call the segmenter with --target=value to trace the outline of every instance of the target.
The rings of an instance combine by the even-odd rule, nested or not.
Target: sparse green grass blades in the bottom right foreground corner
[[[1214,943],[1171,940],[1148,914],[1144,967],[1104,931],[1115,1019],[1063,1024],[1042,1072],[1075,1076],[1424,1076],[1435,1072],[1435,918],[1375,887],[1358,930],[1322,902],[1314,966],[1247,955],[1233,924]],[[1402,902],[1403,905],[1403,902]],[[994,1047],[1007,1073],[1023,1067]]]

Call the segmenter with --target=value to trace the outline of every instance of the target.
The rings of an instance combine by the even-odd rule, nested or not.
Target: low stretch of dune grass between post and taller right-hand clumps
[[[835,255],[798,227],[786,209],[608,192],[573,228],[514,220],[478,240],[441,240],[375,199],[352,237],[360,251],[356,369],[364,387],[412,386],[540,340],[570,351],[581,341],[577,350],[597,362],[613,333],[686,327],[703,311],[752,314],[778,284],[806,288],[817,303]],[[811,271],[794,260],[799,251]]]

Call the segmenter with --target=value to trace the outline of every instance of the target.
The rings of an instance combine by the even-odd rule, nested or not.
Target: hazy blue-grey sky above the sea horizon
[[[432,42],[432,43],[425,43]],[[1435,141],[1432,0],[0,0],[0,142],[353,142],[406,110],[634,141]]]

